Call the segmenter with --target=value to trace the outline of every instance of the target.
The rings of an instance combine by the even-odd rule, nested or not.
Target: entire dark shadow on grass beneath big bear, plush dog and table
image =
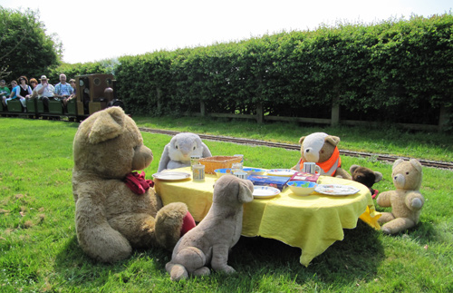
[[[213,272],[211,276],[191,278],[189,282],[196,286],[213,283],[220,288],[235,289],[236,286],[256,286],[271,278],[276,282],[309,282],[329,288],[332,284],[347,285],[357,279],[372,280],[384,259],[381,237],[381,232],[359,220],[356,229],[344,230],[344,239],[333,243],[307,268],[299,262],[301,249],[275,239],[241,237],[228,260],[228,264],[239,274],[225,276]],[[130,259],[103,264],[90,259],[73,236],[57,255],[54,269],[64,280],[65,287],[101,288],[115,276],[121,278],[120,282],[126,282],[125,276],[140,274],[144,268],[155,269],[151,273],[151,278],[155,280],[167,279],[165,264],[170,258],[171,252],[164,249],[134,250]],[[149,278],[148,275],[145,277]]]

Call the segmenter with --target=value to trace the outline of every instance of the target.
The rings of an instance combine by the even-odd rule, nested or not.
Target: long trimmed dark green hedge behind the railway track
[[[200,112],[437,124],[453,107],[453,15],[337,24],[241,42],[120,57],[127,111]],[[450,115],[448,127],[453,126]]]

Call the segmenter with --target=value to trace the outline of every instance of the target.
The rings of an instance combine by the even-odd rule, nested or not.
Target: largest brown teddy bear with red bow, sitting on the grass
[[[92,259],[115,262],[132,248],[173,249],[195,226],[184,203],[162,208],[142,171],[153,157],[135,122],[120,107],[95,112],[73,142],[75,228]]]

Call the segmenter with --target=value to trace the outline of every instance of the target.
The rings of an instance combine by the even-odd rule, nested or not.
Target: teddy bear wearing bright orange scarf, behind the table
[[[304,161],[315,162],[321,168],[321,175],[351,179],[351,175],[342,169],[342,158],[337,145],[340,142],[338,136],[328,135],[324,132],[314,132],[303,136],[299,140],[301,144],[301,160],[293,167],[296,171],[302,171]]]

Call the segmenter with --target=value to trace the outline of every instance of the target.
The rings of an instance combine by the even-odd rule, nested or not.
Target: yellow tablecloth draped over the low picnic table
[[[190,167],[172,171],[191,173]],[[160,181],[155,189],[164,205],[182,201],[196,221],[203,220],[212,204],[216,175],[206,174],[204,182]],[[370,190],[361,183],[321,176],[320,184],[352,185],[360,191],[348,196],[327,196],[314,192],[297,196],[289,188],[271,199],[253,200],[244,205],[242,235],[278,239],[302,249],[300,262],[308,266],[336,240],[344,237],[343,229],[357,226],[360,218],[374,229],[381,227],[381,214],[374,210]]]

